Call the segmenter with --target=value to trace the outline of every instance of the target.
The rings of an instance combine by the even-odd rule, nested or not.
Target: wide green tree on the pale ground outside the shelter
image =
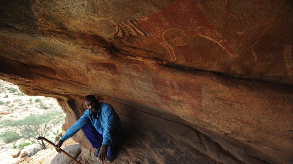
[[[21,137],[38,143],[45,149],[46,145],[43,140],[39,141],[37,138],[46,137],[50,133],[50,129],[63,123],[63,120],[64,113],[62,111],[50,111],[41,115],[31,114],[19,120],[4,120],[1,124],[17,128]]]

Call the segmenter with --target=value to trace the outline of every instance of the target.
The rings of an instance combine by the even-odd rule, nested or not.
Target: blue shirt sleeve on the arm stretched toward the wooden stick
[[[89,109],[87,109],[89,110]],[[61,137],[60,140],[65,141],[68,138],[72,137],[74,134],[76,134],[87,122],[90,121],[88,116],[88,111],[85,111],[83,115],[65,132],[64,136]]]

